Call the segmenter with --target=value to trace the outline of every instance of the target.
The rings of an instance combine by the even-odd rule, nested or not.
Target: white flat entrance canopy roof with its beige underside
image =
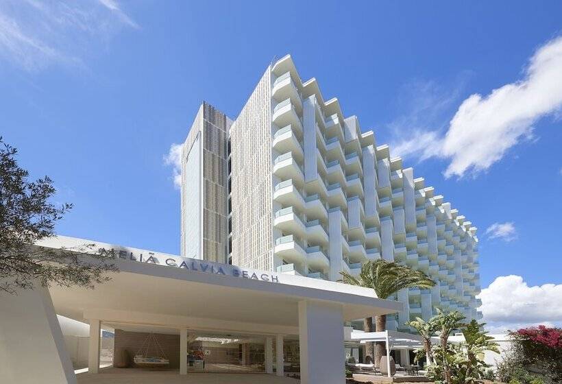
[[[58,237],[43,246],[77,249],[95,241]],[[341,307],[343,320],[395,313],[402,304],[372,289],[184,259],[137,248],[114,249],[119,273],[95,289],[51,287],[56,312],[75,320],[182,326],[210,331],[298,334],[298,304]]]

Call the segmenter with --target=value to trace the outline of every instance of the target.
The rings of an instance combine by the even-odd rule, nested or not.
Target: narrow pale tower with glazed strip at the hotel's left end
[[[232,120],[205,101],[182,146],[183,257],[228,261],[228,131]]]

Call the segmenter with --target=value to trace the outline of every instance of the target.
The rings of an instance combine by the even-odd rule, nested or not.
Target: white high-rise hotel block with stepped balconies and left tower
[[[388,329],[437,308],[481,317],[476,227],[315,78],[302,82],[291,56],[234,121],[199,108],[182,151],[182,256],[334,281],[397,261],[437,285],[398,292]]]

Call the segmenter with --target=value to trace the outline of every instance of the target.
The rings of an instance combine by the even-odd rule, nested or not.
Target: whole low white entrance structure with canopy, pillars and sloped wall
[[[93,242],[62,238],[41,246],[81,243]],[[119,273],[107,283],[0,299],[0,382],[235,383],[232,375],[241,375],[245,383],[276,383],[294,374],[303,384],[342,384],[343,324],[402,309],[371,289],[98,246],[118,255]],[[87,374],[74,374],[56,314],[90,324]],[[110,357],[102,328],[114,334]]]

